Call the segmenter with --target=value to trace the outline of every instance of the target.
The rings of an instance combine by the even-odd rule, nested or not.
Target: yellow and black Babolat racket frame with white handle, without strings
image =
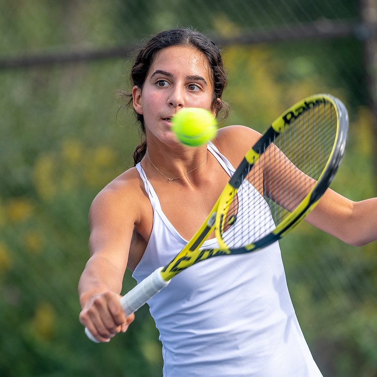
[[[335,108],[338,124],[335,142],[317,183],[296,209],[278,224],[271,233],[254,243],[229,249],[222,240],[220,229],[224,228],[229,205],[237,194],[237,190],[241,186],[243,179],[247,176],[252,166],[259,160],[260,156],[266,151],[268,146],[273,143],[275,138],[284,132],[286,127],[291,127],[293,120],[310,108],[326,102],[331,103]],[[218,255],[242,254],[259,250],[278,241],[286,233],[296,227],[297,224],[315,208],[334,178],[344,155],[348,134],[348,122],[347,109],[343,103],[329,94],[317,94],[307,97],[286,110],[271,124],[269,129],[259,138],[254,146],[247,151],[242,162],[217,199],[210,214],[185,247],[165,267],[156,269],[120,299],[126,316],[135,312],[150,298],[160,292],[162,288],[166,287],[176,274],[187,269],[189,266]],[[215,231],[219,247],[200,249],[200,246],[213,231]],[[90,340],[98,343],[87,328],[85,328],[85,333]]]

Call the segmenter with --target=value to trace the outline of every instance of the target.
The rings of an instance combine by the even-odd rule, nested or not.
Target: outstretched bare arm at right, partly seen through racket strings
[[[261,157],[261,164],[265,166],[265,195],[288,211],[296,208],[313,187],[313,179],[276,147]],[[282,187],[291,194],[282,194]],[[327,188],[306,221],[344,242],[361,246],[377,240],[377,198],[355,202]]]

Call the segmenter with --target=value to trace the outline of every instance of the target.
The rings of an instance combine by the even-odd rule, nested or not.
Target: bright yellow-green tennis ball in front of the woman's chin
[[[217,122],[213,114],[204,108],[183,108],[173,118],[172,131],[185,145],[197,147],[215,137]]]

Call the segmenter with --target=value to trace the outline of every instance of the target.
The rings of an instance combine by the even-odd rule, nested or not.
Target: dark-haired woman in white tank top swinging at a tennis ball
[[[203,34],[172,29],[136,56],[130,103],[144,140],[135,166],[90,208],[90,259],[81,275],[81,323],[100,342],[125,332],[134,314],[120,305],[128,267],[137,282],[169,262],[213,208],[260,134],[221,128],[212,142],[178,142],[170,119],[182,108],[227,115],[219,48]],[[377,199],[350,201],[327,189],[307,221],[353,245],[377,239]],[[205,241],[211,246],[210,239]],[[183,271],[148,301],[160,331],[163,376],[322,376],[288,293],[278,242]]]

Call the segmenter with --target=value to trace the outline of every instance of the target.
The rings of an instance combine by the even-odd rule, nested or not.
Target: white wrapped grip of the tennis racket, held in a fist
[[[154,270],[149,276],[137,284],[131,291],[126,293],[120,299],[120,304],[126,317],[134,313],[138,308],[143,306],[147,300],[159,293],[162,288],[166,287],[170,280],[165,281],[161,276],[162,267]],[[85,327],[86,336],[95,343],[99,343],[97,339]]]

